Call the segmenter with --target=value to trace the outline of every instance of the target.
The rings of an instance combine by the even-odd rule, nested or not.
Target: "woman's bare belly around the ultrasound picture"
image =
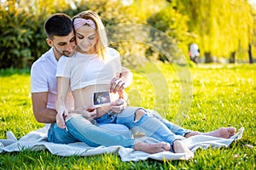
[[[93,105],[93,94],[94,92],[101,92],[101,91],[109,91],[110,84],[97,84],[87,86],[86,88],[81,88],[78,90],[73,91],[73,98],[74,98],[74,108],[75,110],[81,107],[92,109],[95,106]],[[110,93],[110,102],[119,99],[119,94]],[[104,114],[110,111],[109,105],[104,105],[96,108],[97,116],[101,117]]]

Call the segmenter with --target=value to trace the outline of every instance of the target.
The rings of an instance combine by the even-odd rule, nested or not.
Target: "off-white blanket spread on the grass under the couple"
[[[222,139],[209,137],[205,135],[197,135],[185,139],[184,143],[187,144],[190,150],[195,152],[198,148],[207,149],[209,146],[214,148],[228,147],[233,141],[241,139],[244,128],[241,127],[236,135],[230,139]],[[158,142],[155,139],[143,137],[139,140],[146,141],[148,143]],[[76,142],[73,144],[54,144],[47,142],[46,129],[40,128],[26,134],[26,136],[17,140],[12,132],[7,133],[7,139],[0,139],[0,153],[12,152],[20,150],[44,150],[47,149],[53,155],[57,156],[95,156],[104,153],[118,153],[122,161],[140,161],[152,158],[155,160],[189,160],[194,155],[185,155],[172,153],[170,151],[164,151],[157,154],[148,154],[143,151],[135,151],[130,148],[124,148],[122,146],[99,146],[90,147],[82,142]]]

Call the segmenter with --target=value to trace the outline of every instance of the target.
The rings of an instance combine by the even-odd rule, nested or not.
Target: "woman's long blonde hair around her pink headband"
[[[85,20],[93,20],[96,25],[96,32],[98,34],[98,40],[96,42],[96,54],[101,57],[103,60],[107,57],[107,47],[108,47],[108,37],[105,31],[105,27],[102,23],[102,20],[96,12],[92,10],[83,11],[73,17],[73,21],[76,18],[82,18]]]

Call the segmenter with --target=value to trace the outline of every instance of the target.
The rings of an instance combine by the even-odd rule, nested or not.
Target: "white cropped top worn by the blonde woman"
[[[58,62],[56,77],[70,78],[71,90],[95,84],[110,84],[113,77],[121,72],[119,52],[107,48],[108,56],[104,62],[96,54],[62,56]]]

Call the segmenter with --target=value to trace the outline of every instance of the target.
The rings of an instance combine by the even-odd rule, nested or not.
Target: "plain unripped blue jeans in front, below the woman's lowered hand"
[[[62,129],[58,127],[57,123],[51,124],[48,131],[48,141],[57,144],[84,142],[93,147],[122,145],[127,148],[132,148],[135,143],[134,139],[127,139],[119,133],[96,126],[83,116],[70,118],[67,120],[66,126],[67,129]]]

